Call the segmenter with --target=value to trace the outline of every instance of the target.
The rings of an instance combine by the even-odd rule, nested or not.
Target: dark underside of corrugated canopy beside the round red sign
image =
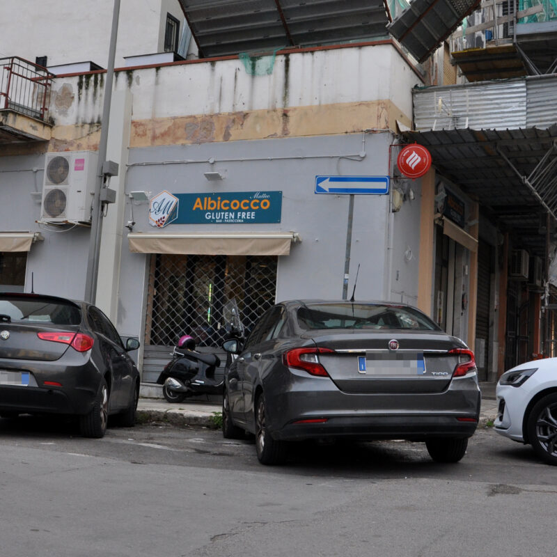
[[[549,210],[555,221],[557,214],[557,125],[403,135],[427,147],[439,173],[477,199],[516,247],[544,256],[540,218]]]

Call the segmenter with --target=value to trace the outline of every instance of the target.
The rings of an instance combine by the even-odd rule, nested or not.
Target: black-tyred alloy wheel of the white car
[[[526,427],[536,455],[548,464],[557,465],[557,393],[535,403]]]

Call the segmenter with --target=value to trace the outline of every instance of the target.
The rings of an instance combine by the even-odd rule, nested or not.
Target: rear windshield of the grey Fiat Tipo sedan
[[[417,329],[439,331],[421,311],[383,304],[308,304],[297,312],[301,329]]]

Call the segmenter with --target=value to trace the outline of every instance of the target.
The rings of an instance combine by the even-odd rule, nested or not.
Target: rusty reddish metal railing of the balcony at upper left
[[[54,77],[24,58],[0,58],[0,109],[45,120]]]

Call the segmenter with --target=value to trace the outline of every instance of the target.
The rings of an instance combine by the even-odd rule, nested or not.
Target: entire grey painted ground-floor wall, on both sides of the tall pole
[[[315,175],[388,175],[392,135],[366,134],[363,140],[363,134],[350,134],[132,149],[129,157],[132,166],[127,168],[125,190],[146,190],[152,194],[163,189],[173,193],[283,191],[281,223],[170,224],[161,232],[295,231],[301,235],[302,242],[292,244],[290,256],[279,258],[276,299],[340,299],[349,196],[316,195]],[[361,157],[363,152],[365,156]],[[209,182],[204,178],[203,172],[212,167],[208,162],[211,158],[215,161],[214,168],[226,173],[225,180]],[[184,163],[176,164],[178,161]],[[142,166],[146,162],[157,164]],[[38,170],[33,172],[33,168]],[[40,217],[40,203],[31,193],[42,190],[43,168],[44,155],[0,157],[0,228],[2,231],[40,231],[45,237],[45,241],[34,244],[29,253],[26,291],[31,289],[30,276],[34,272],[37,292],[82,298],[89,229],[58,230],[36,223]],[[415,299],[418,288],[418,182],[414,191],[414,201],[403,203],[395,214],[390,212],[389,196],[356,196],[349,297],[360,265],[356,299],[391,297],[400,301],[399,292],[404,292],[404,301]],[[122,226],[130,219],[130,209],[128,199]],[[134,204],[133,211],[134,232],[153,233],[157,230],[148,223],[148,203]],[[124,232],[120,284],[113,285],[118,289],[116,325],[121,334],[142,339],[148,256],[131,253],[127,230]],[[406,262],[404,252],[408,245],[413,257]],[[392,249],[388,249],[389,246]],[[390,274],[389,259],[393,269]]]

